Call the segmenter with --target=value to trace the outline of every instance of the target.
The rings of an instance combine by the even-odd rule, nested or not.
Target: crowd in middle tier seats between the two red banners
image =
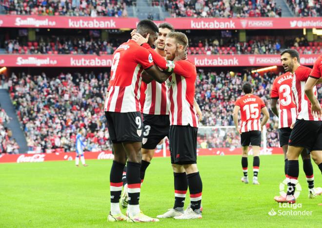
[[[41,37],[38,41],[7,40],[4,43],[6,53],[19,54],[113,54],[118,39],[109,41],[93,38],[56,38]],[[282,48],[296,48],[301,54],[322,53],[322,42],[309,42],[305,37],[279,41],[274,39],[250,39],[239,42],[225,38],[190,38],[188,54],[279,54]]]

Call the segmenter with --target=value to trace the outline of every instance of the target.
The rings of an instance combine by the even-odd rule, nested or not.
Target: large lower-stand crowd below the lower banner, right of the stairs
[[[282,73],[280,73],[282,74]],[[107,88],[108,73],[79,74],[61,73],[58,77],[46,74],[31,76],[14,73],[9,79],[9,91],[18,117],[26,134],[30,150],[75,150],[77,129],[84,127],[86,149],[99,151],[110,149],[109,135],[102,111]],[[269,106],[269,92],[276,74],[262,76],[250,72],[198,71],[196,100],[201,107],[201,126],[232,126],[234,102],[241,95],[241,84],[250,81],[255,95]],[[11,81],[11,82],[10,82]],[[322,99],[322,87],[319,88]],[[278,118],[271,114],[267,126],[267,145],[279,146]],[[198,147],[239,146],[235,129],[200,130]]]

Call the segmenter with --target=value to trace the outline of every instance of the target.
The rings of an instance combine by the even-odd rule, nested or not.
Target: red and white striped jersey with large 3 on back
[[[295,123],[297,110],[292,95],[293,74],[287,72],[277,77],[272,86],[271,98],[280,99],[279,128],[290,127]]]

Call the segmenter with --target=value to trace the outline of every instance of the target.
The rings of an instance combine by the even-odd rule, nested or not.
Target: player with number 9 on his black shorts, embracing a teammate
[[[157,40],[159,29],[150,20],[138,23],[137,33],[148,37],[149,45]],[[152,55],[135,41],[122,43],[113,54],[111,79],[104,110],[108,132],[113,144],[114,160],[110,172],[111,210],[108,221],[157,222],[144,215],[139,207],[141,191],[142,120],[140,107],[141,72],[169,77],[154,64]],[[127,216],[121,213],[119,201],[122,190],[122,173],[126,164],[128,189]]]

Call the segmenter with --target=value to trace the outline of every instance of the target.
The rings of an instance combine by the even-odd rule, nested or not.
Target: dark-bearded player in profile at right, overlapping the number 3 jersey
[[[293,72],[292,92],[297,107],[297,118],[292,129],[287,149],[287,187],[286,197],[276,196],[279,203],[295,203],[294,192],[299,177],[299,156],[305,148],[311,153],[315,163],[322,171],[322,117],[311,112],[310,99],[317,97],[316,83],[309,77],[312,69],[299,63],[299,53],[293,49],[286,49],[281,53],[282,65],[285,71]],[[305,86],[305,82],[308,84]],[[315,81],[315,83],[312,83]],[[306,87],[306,89],[305,89]]]

